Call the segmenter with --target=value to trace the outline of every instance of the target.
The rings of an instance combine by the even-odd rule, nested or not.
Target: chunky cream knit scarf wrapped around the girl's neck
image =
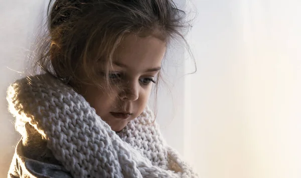
[[[74,177],[197,177],[152,124],[148,107],[119,133],[72,88],[44,74],[8,89],[16,129],[28,122]]]

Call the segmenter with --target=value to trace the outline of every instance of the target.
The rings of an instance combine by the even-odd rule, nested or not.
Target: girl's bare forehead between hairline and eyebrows
[[[117,47],[113,62],[126,65],[131,70],[160,67],[166,52],[166,42],[154,37],[127,35]]]

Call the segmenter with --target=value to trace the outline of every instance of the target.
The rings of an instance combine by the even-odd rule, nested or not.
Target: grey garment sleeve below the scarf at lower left
[[[9,178],[71,178],[71,174],[55,159],[46,140],[30,125],[25,124],[22,136],[8,172]]]

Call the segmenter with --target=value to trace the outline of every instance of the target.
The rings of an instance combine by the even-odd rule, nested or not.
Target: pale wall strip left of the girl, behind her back
[[[15,145],[20,139],[14,129],[14,118],[7,109],[6,90],[10,83],[23,76],[15,71],[24,71],[27,50],[43,2],[13,0],[1,1],[0,4],[0,177],[6,177]]]

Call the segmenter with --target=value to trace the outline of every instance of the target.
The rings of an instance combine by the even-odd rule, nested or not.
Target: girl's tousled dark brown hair
[[[187,45],[182,34],[190,27],[172,0],[50,0],[47,14],[47,36],[38,45],[35,71],[100,87],[93,66],[104,62],[109,85],[112,55],[127,34],[156,36],[167,45],[180,38]]]

